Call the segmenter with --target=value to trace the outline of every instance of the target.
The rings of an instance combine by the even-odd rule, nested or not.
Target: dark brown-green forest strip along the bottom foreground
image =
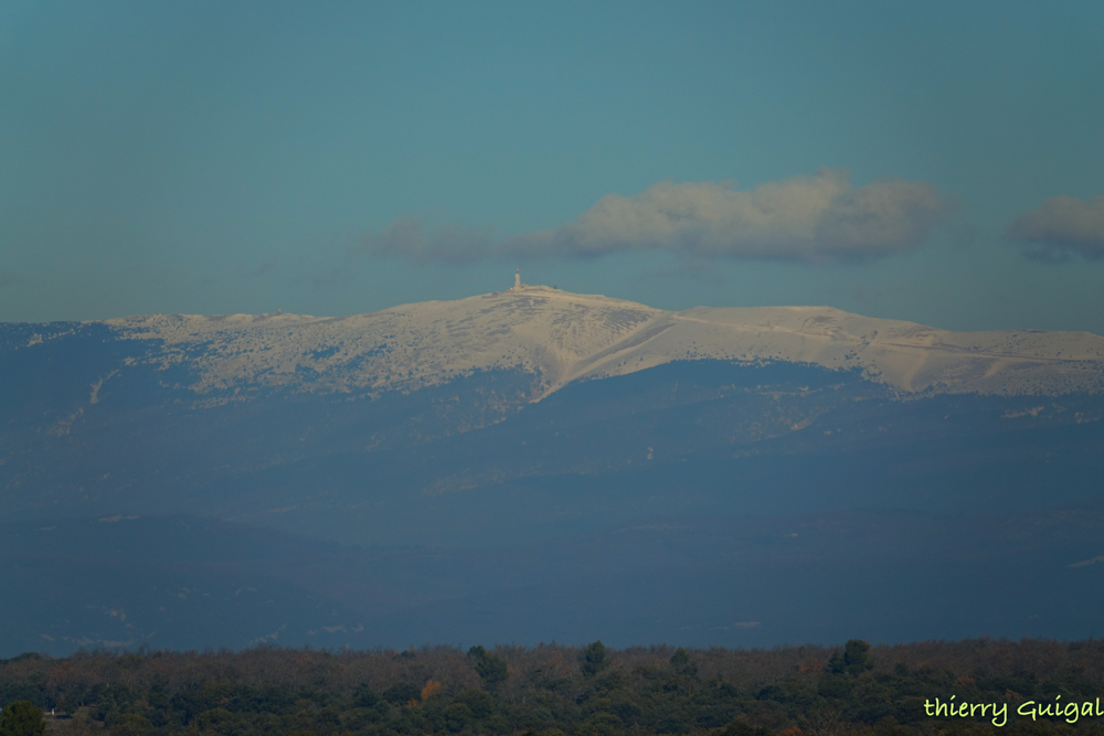
[[[1104,643],[967,640],[774,650],[452,647],[81,652],[0,661],[0,704],[57,734],[1104,733]],[[930,715],[994,704],[1007,718]],[[952,700],[954,698],[954,700]],[[1092,714],[1083,714],[1085,704]],[[1062,717],[1040,716],[1041,708]],[[1066,711],[1076,704],[1078,714]],[[931,710],[931,708],[928,708]],[[1032,711],[1036,717],[1031,717]],[[1007,723],[1000,723],[1005,721]],[[994,724],[997,724],[996,726]],[[1072,725],[1070,725],[1072,723]]]

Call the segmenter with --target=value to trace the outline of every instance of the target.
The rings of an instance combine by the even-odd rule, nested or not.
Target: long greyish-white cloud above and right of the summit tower
[[[821,169],[751,191],[661,181],[634,196],[607,194],[573,222],[498,244],[487,230],[426,234],[417,220],[401,220],[370,236],[364,249],[420,265],[655,250],[699,259],[869,260],[919,247],[945,211],[931,184],[882,180],[854,188],[846,170]]]

